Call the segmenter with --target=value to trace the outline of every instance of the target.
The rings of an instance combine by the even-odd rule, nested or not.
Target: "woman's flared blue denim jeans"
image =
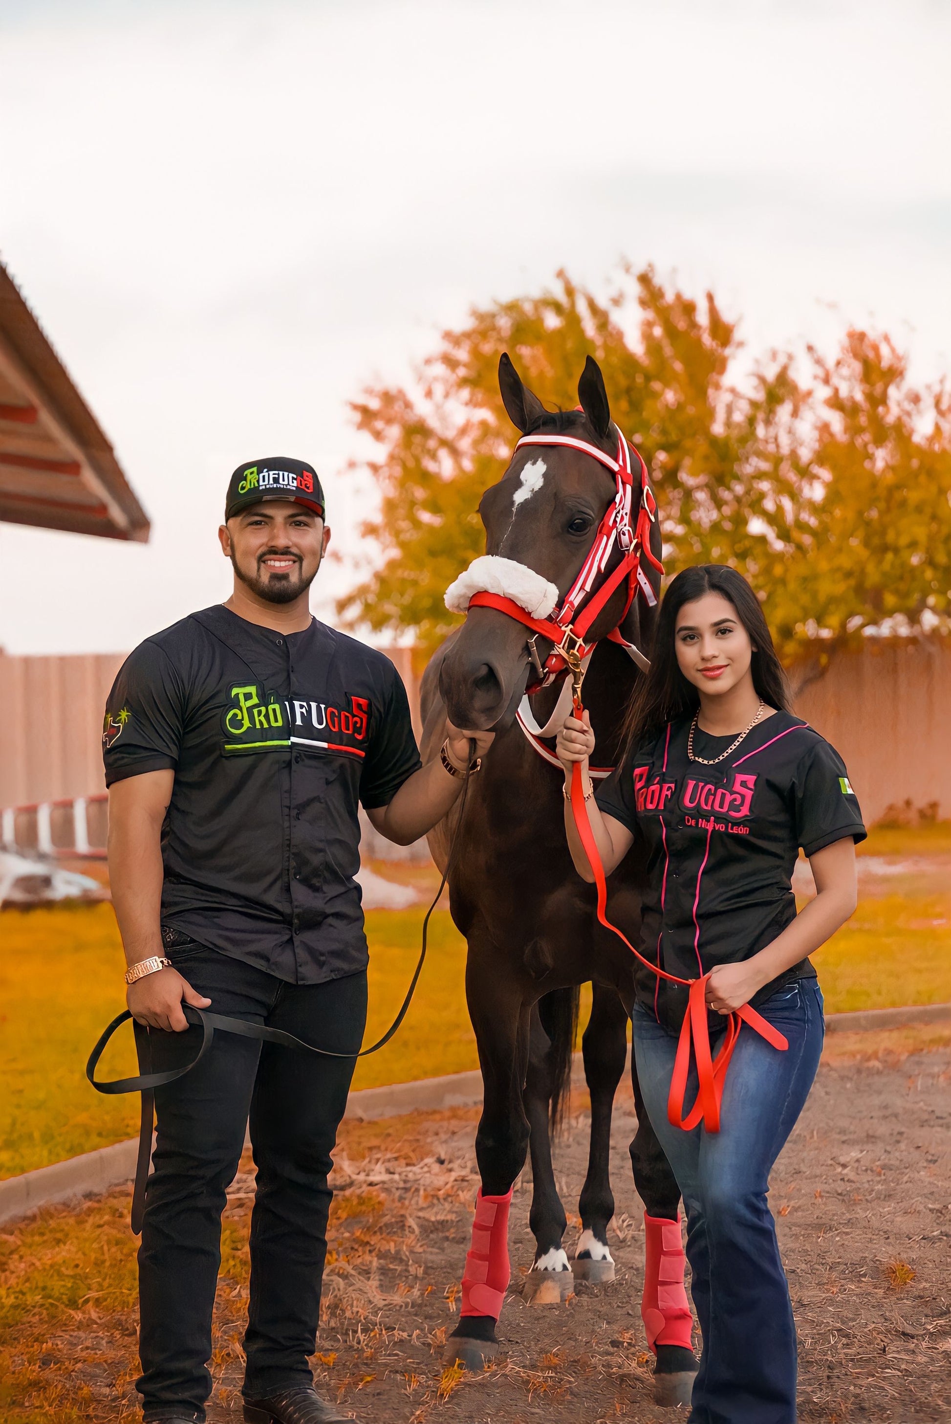
[[[703,1334],[689,1424],[794,1424],[796,1326],[767,1206],[769,1173],[803,1111],[823,1048],[816,980],[777,990],[757,1011],[786,1052],[743,1025],[726,1075],[720,1131],[668,1122],[676,1038],[642,1008],[634,1051],[643,1102],[686,1208],[686,1255]],[[716,1049],[716,1040],[713,1041]],[[696,1095],[690,1068],[685,1101]]]

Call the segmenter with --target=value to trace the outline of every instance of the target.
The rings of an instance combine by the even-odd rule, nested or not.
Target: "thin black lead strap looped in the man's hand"
[[[335,1052],[330,1048],[317,1048],[316,1044],[306,1044],[303,1038],[296,1038],[293,1034],[286,1034],[282,1028],[268,1028],[265,1024],[249,1024],[243,1018],[231,1018],[228,1014],[212,1014],[206,1008],[194,1008],[191,1004],[182,1004],[182,1012],[189,1024],[195,1028],[201,1027],[202,1041],[201,1048],[195,1054],[191,1062],[185,1064],[184,1068],[169,1068],[162,1072],[144,1072],[138,1074],[135,1078],[112,1078],[110,1082],[98,1082],[95,1078],[95,1069],[98,1067],[100,1058],[105,1051],[105,1045],[118,1028],[122,1027],[128,1020],[132,1018],[130,1010],[124,1010],[121,1014],[112,1020],[112,1022],[100,1035],[95,1048],[90,1054],[88,1062],[85,1065],[85,1077],[93,1084],[97,1092],[107,1095],[120,1095],[125,1092],[141,1092],[142,1095],[142,1115],[140,1121],[138,1132],[138,1158],[135,1162],[135,1186],[132,1189],[132,1213],[131,1226],[132,1232],[138,1236],[142,1230],[142,1215],[145,1212],[145,1185],[148,1182],[149,1166],[152,1161],[152,1125],[155,1121],[155,1089],[164,1088],[169,1082],[175,1082],[178,1078],[184,1078],[189,1074],[196,1064],[202,1061],[205,1054],[212,1045],[215,1038],[215,1030],[218,1028],[222,1034],[238,1034],[241,1038],[256,1038],[265,1044],[280,1044],[283,1048],[303,1048],[309,1054],[319,1054],[322,1058],[366,1058],[367,1054],[376,1054],[380,1048],[384,1048],[393,1038],[400,1024],[407,1015],[409,1007],[413,1002],[413,995],[416,993],[416,985],[420,981],[420,974],[423,973],[423,964],[426,963],[426,950],[429,944],[429,927],[433,910],[440,901],[443,890],[446,889],[446,881],[448,880],[448,873],[456,863],[456,847],[458,842],[458,830],[463,824],[463,815],[466,810],[466,797],[468,795],[468,780],[471,776],[471,762],[476,759],[476,746],[470,742],[470,768],[466,772],[466,780],[463,783],[463,795],[458,799],[458,815],[456,820],[456,829],[453,832],[453,840],[450,843],[448,857],[446,860],[446,870],[443,871],[443,879],[440,880],[438,890],[433,897],[433,903],[426,911],[423,920],[423,943],[420,946],[420,957],[416,963],[416,970],[413,971],[413,978],[410,980],[410,987],[406,991],[400,1011],[383,1034],[377,1038],[374,1044],[369,1048],[354,1049],[352,1054]],[[144,1024],[132,1021],[132,1031],[135,1034],[135,1047],[138,1051],[140,1065],[142,1062],[151,1061],[151,1040],[149,1030]]]

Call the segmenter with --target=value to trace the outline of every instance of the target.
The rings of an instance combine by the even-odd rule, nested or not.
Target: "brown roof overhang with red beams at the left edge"
[[[0,520],[145,543],[148,517],[0,262]]]

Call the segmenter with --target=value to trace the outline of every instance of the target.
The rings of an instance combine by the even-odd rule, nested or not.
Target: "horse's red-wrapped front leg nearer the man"
[[[498,1353],[495,1324],[510,1277],[508,1208],[528,1148],[522,1082],[531,1011],[497,953],[473,954],[471,938],[466,997],[483,1071],[483,1115],[476,1134],[481,1188],[463,1272],[460,1321],[446,1341],[443,1358],[478,1370]]]

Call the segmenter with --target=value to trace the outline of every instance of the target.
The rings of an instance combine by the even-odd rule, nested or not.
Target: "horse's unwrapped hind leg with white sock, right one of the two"
[[[578,1280],[614,1280],[608,1222],[614,1216],[611,1190],[611,1114],[628,1057],[628,1011],[618,994],[591,985],[591,1018],[581,1040],[585,1079],[591,1094],[588,1175],[578,1198],[581,1236],[575,1249]]]

